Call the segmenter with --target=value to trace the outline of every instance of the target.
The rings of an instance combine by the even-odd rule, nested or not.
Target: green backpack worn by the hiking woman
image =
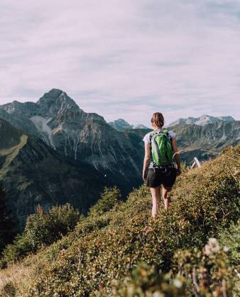
[[[155,166],[164,167],[173,162],[172,137],[168,130],[152,131],[150,134],[151,159]]]

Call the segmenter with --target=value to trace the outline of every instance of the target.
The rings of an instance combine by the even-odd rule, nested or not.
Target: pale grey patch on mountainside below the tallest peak
[[[44,138],[47,137],[46,141],[50,143],[50,146],[52,146],[55,149],[55,145],[53,142],[53,130],[48,126],[48,123],[53,119],[52,117],[45,118],[41,116],[34,116],[30,118],[31,121],[33,121],[33,124],[35,124],[36,128],[40,132],[41,135],[43,135]]]

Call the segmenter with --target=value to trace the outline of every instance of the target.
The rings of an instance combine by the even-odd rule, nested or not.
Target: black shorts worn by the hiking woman
[[[147,186],[149,188],[157,188],[161,184],[164,187],[172,187],[177,177],[177,169],[174,167],[168,168],[153,168],[148,169]]]

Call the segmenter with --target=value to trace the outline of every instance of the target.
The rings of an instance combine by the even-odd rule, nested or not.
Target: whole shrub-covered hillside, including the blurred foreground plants
[[[145,185],[126,202],[109,191],[109,207],[105,193],[74,231],[2,270],[2,295],[238,296],[239,157],[229,147],[180,175],[155,220]]]

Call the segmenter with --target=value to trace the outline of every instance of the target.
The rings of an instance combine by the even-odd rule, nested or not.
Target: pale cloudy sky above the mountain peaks
[[[85,112],[240,119],[240,0],[1,0],[0,104],[61,89]]]

